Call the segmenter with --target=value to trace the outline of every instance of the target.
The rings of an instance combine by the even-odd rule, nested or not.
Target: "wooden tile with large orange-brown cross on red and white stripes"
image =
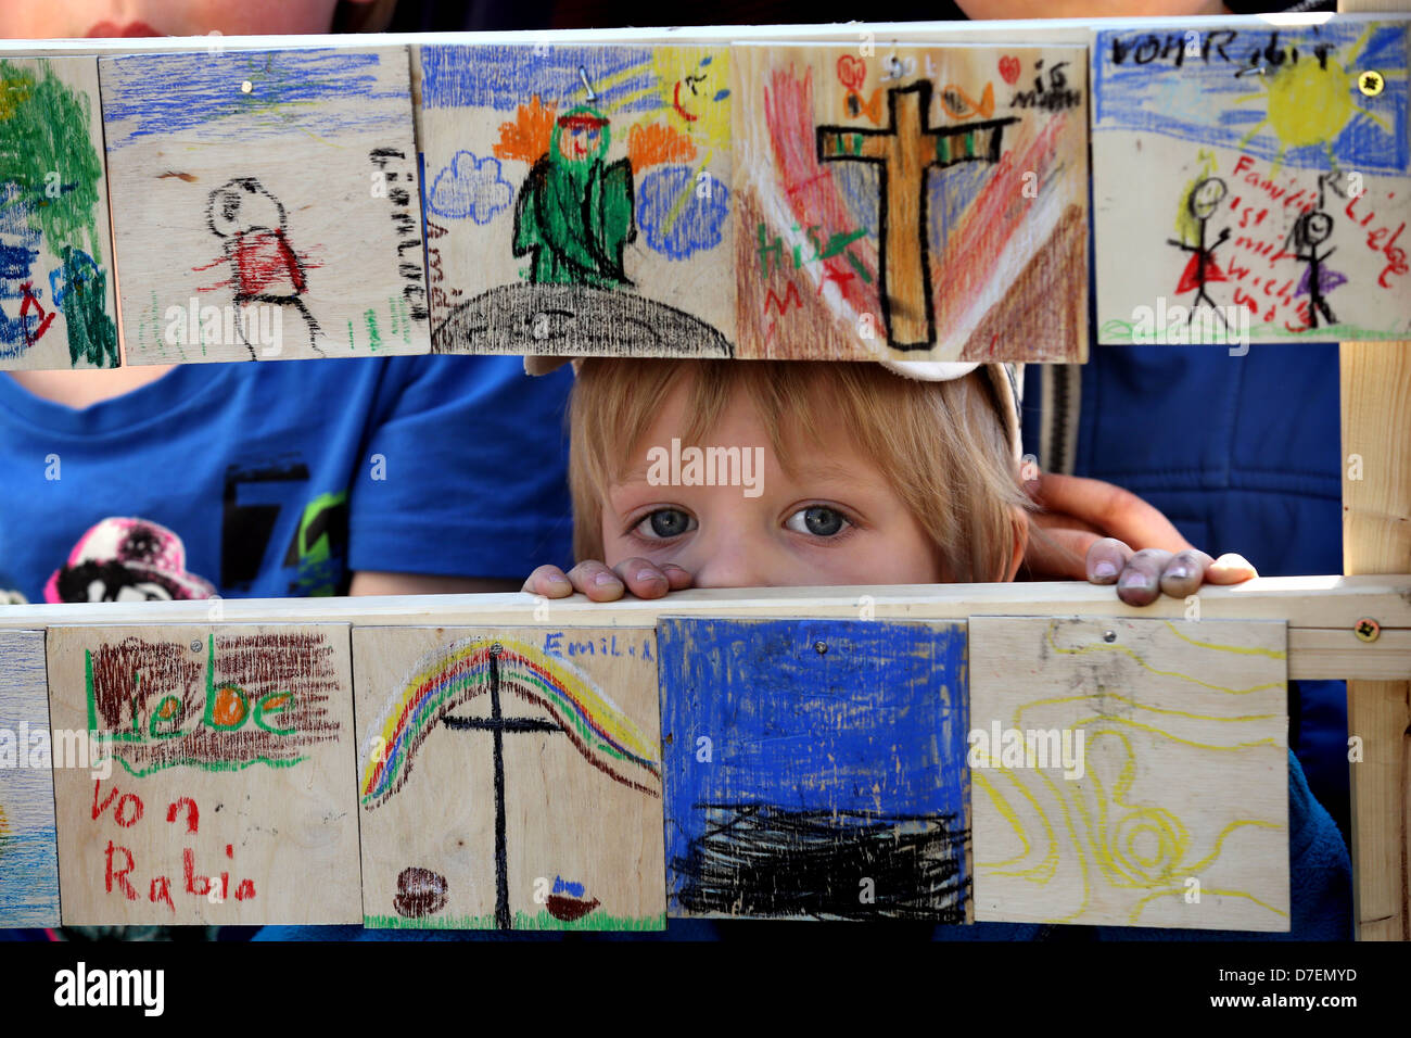
[[[732,61],[739,356],[1084,359],[1084,48]]]

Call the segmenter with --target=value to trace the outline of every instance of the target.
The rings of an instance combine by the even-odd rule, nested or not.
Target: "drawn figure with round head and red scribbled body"
[[[237,177],[210,192],[206,226],[224,243],[224,257],[233,270],[237,329],[250,356],[255,357],[255,349],[247,309],[248,304],[260,302],[299,311],[309,329],[309,346],[323,353],[317,345],[319,322],[302,299],[308,281],[298,253],[289,246],[279,199],[255,178]]]

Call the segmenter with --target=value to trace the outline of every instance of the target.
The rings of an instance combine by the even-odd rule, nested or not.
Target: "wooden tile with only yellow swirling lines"
[[[1283,624],[969,633],[976,919],[1288,929]]]

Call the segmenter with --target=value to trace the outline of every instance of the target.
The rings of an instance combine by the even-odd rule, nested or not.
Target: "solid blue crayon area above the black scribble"
[[[667,861],[700,802],[964,816],[964,624],[663,619],[658,648]]]

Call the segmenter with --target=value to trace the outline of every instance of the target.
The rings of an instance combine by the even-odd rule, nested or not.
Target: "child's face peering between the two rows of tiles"
[[[632,558],[690,572],[697,587],[940,583],[937,552],[892,486],[862,458],[844,429],[792,436],[786,473],[748,394],[735,394],[701,448],[739,448],[749,486],[683,486],[693,475],[682,443],[672,476],[672,439],[687,426],[687,380],[634,449],[632,467],[602,507],[604,562]],[[759,448],[756,451],[756,448]],[[650,452],[650,453],[649,453]],[[652,460],[656,460],[653,465]],[[748,496],[746,496],[748,491]]]

